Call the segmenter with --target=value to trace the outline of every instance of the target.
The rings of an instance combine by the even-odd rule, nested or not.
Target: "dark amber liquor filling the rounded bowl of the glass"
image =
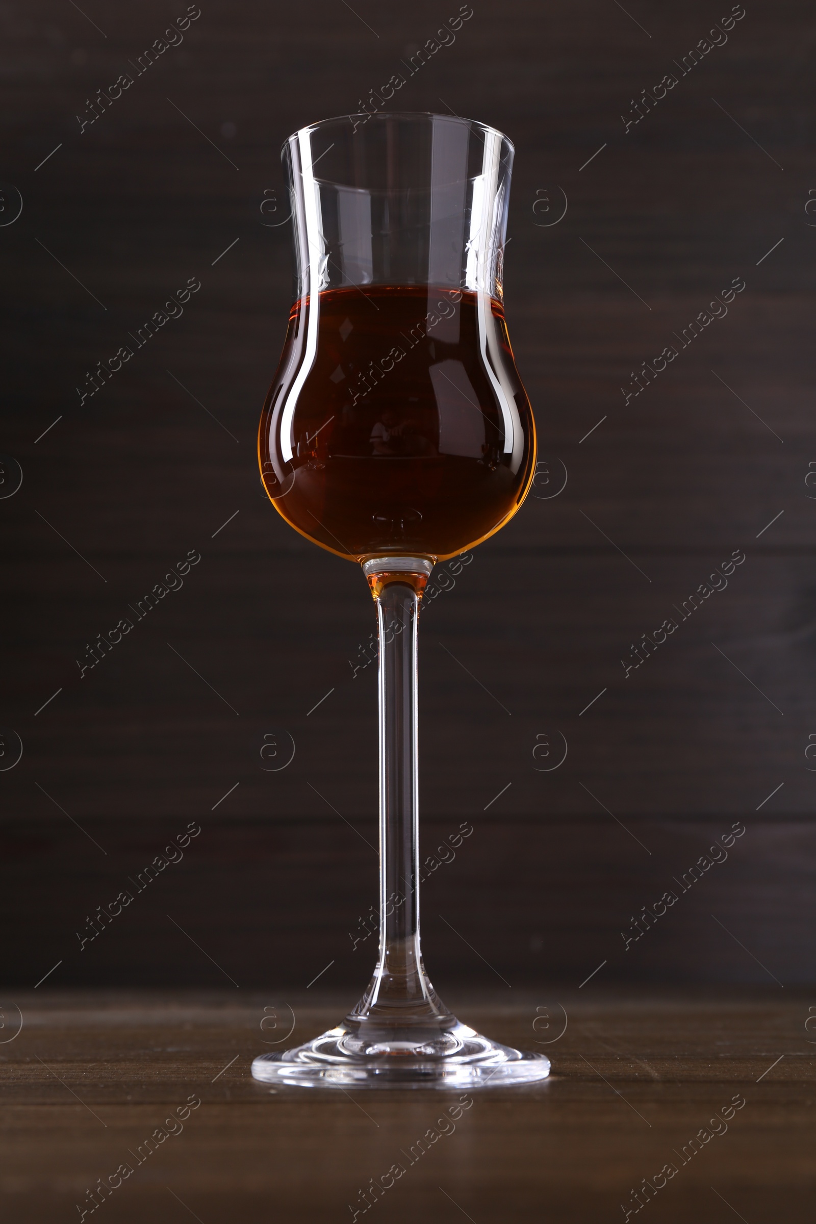
[[[308,299],[292,307],[259,431],[262,479],[286,521],[354,559],[444,558],[497,531],[535,469],[500,304],[427,285],[330,289],[311,356],[308,312]]]

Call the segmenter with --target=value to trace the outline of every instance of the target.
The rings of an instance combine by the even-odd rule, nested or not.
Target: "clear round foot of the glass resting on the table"
[[[303,1088],[487,1088],[535,1083],[549,1059],[482,1037],[453,1016],[443,1031],[416,1027],[362,1033],[339,1024],[284,1054],[261,1054],[252,1075]]]

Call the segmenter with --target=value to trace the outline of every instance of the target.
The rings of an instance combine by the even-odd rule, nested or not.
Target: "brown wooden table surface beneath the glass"
[[[483,1032],[549,1053],[553,1073],[473,1092],[456,1121],[443,1121],[461,1094],[270,1089],[251,1078],[251,1059],[275,1048],[263,1042],[291,1027],[290,1007],[295,1028],[279,1048],[336,1021],[351,998],[43,991],[6,999],[2,1011],[10,1224],[81,1218],[86,1192],[121,1164],[133,1173],[93,1213],[109,1224],[351,1220],[360,1191],[395,1163],[405,1173],[369,1219],[599,1224],[636,1207],[644,1179],[659,1187],[641,1208],[650,1224],[814,1218],[816,1034],[805,993],[588,985],[513,991],[509,1004],[450,998]],[[264,1015],[276,1029],[267,1021],[261,1031]],[[188,1102],[190,1115],[165,1125]],[[157,1127],[176,1133],[138,1165]],[[429,1129],[438,1137],[411,1164]],[[677,1173],[662,1185],[666,1165]]]

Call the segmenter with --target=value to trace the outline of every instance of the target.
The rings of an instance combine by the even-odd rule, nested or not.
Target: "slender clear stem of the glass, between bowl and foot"
[[[368,575],[379,629],[379,961],[356,1016],[396,1024],[449,1016],[420,950],[417,624],[429,568]]]

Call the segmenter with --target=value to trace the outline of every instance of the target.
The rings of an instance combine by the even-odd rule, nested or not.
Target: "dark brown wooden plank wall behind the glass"
[[[23,471],[0,502],[0,723],[23,743],[0,774],[7,982],[57,962],[49,985],[305,987],[328,962],[350,999],[367,980],[374,939],[349,933],[376,901],[376,685],[349,660],[373,610],[259,487],[291,284],[287,228],[264,224],[285,212],[261,204],[289,132],[356,109],[456,7],[202,0],[81,135],[182,0],[4,6],[0,222],[23,200],[0,228],[0,449]],[[601,962],[587,991],[814,978],[816,28],[801,0],[746,9],[626,135],[630,99],[729,4],[473,0],[398,95],[515,142],[506,305],[549,464],[536,492],[568,472],[423,612],[423,852],[473,826],[425,890],[443,994],[576,987]],[[184,317],[80,406],[86,371],[190,277]],[[625,406],[630,372],[736,277],[728,316]],[[738,548],[728,589],[625,679],[630,644]],[[80,679],[86,643],[188,550],[184,588]],[[296,753],[264,772],[273,728]],[[554,764],[559,734],[565,761],[537,772],[537,737]],[[631,916],[740,820],[728,860],[624,951]],[[191,821],[184,860],[80,951]]]

